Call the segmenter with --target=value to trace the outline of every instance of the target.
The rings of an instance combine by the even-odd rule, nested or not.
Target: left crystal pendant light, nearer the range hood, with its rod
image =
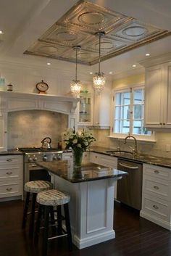
[[[76,97],[79,96],[80,94],[80,89],[81,89],[81,83],[80,80],[78,80],[78,51],[80,50],[80,46],[73,46],[73,49],[76,52],[76,67],[75,67],[75,79],[72,80],[72,82],[70,83],[70,90],[72,92],[72,94]]]

